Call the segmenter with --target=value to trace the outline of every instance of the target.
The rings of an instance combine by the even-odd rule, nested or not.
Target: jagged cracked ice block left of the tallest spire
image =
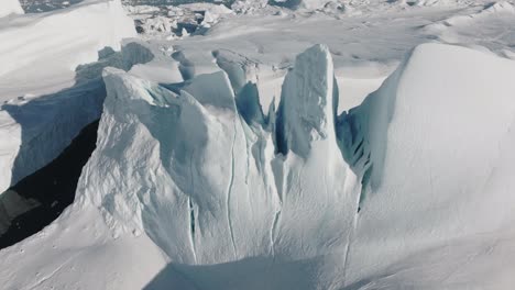
[[[109,97],[99,149],[78,194],[102,208],[116,232],[145,232],[178,263],[222,263],[270,252],[278,207],[273,178],[266,180],[271,169],[264,167],[272,143],[253,144],[256,136],[238,115],[224,74],[194,80],[186,90],[198,99],[119,70],[106,71],[105,81]],[[90,187],[97,180],[101,189]]]

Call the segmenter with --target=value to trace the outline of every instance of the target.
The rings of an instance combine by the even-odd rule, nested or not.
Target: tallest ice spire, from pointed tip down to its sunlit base
[[[283,83],[275,131],[285,155],[275,171],[283,201],[278,231],[287,237],[278,244],[292,256],[346,248],[358,211],[359,183],[337,143],[337,96],[329,49],[316,45],[297,56]]]

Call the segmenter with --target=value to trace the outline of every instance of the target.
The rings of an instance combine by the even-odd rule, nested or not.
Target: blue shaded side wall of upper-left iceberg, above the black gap
[[[129,70],[153,57],[138,43],[125,44],[120,53],[105,49],[98,62],[77,68],[74,87],[21,104],[3,104],[0,138],[7,142],[0,143],[0,191],[48,164],[84,126],[100,118],[103,67]]]

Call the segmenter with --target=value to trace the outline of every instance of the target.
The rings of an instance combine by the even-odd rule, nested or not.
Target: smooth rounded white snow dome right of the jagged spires
[[[374,153],[377,141],[384,141],[379,146],[385,153],[380,166],[373,165],[362,197],[350,246],[349,280],[364,274],[387,276],[391,264],[413,263],[425,250],[438,253],[440,247],[460,244],[463,249],[445,258],[446,270],[438,276],[425,277],[435,265],[423,264],[409,270],[412,277],[394,279],[396,286],[468,289],[470,285],[459,281],[476,280],[476,264],[487,263],[490,269],[480,271],[497,274],[482,276],[484,280],[475,286],[509,288],[506,277],[515,267],[513,248],[493,248],[498,239],[513,238],[514,230],[515,168],[509,149],[515,145],[514,74],[513,62],[490,54],[423,45],[377,92],[351,111],[351,115],[368,116],[357,122],[369,133],[365,145]],[[377,138],[388,121],[386,137]],[[481,237],[486,234],[490,241]],[[489,253],[476,254],[486,245],[492,247],[490,261]],[[494,254],[497,250],[507,255],[502,263]],[[428,260],[435,257],[435,253],[427,255]],[[468,263],[449,264],[451,257]],[[487,287],[492,286],[489,278],[502,283]]]

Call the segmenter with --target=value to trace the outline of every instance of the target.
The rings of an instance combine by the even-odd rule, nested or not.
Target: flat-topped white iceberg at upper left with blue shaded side
[[[130,69],[149,51],[133,44],[113,51],[133,35],[118,0],[83,1],[0,23],[0,38],[9,40],[0,42],[0,192],[48,164],[99,119],[101,67]]]

